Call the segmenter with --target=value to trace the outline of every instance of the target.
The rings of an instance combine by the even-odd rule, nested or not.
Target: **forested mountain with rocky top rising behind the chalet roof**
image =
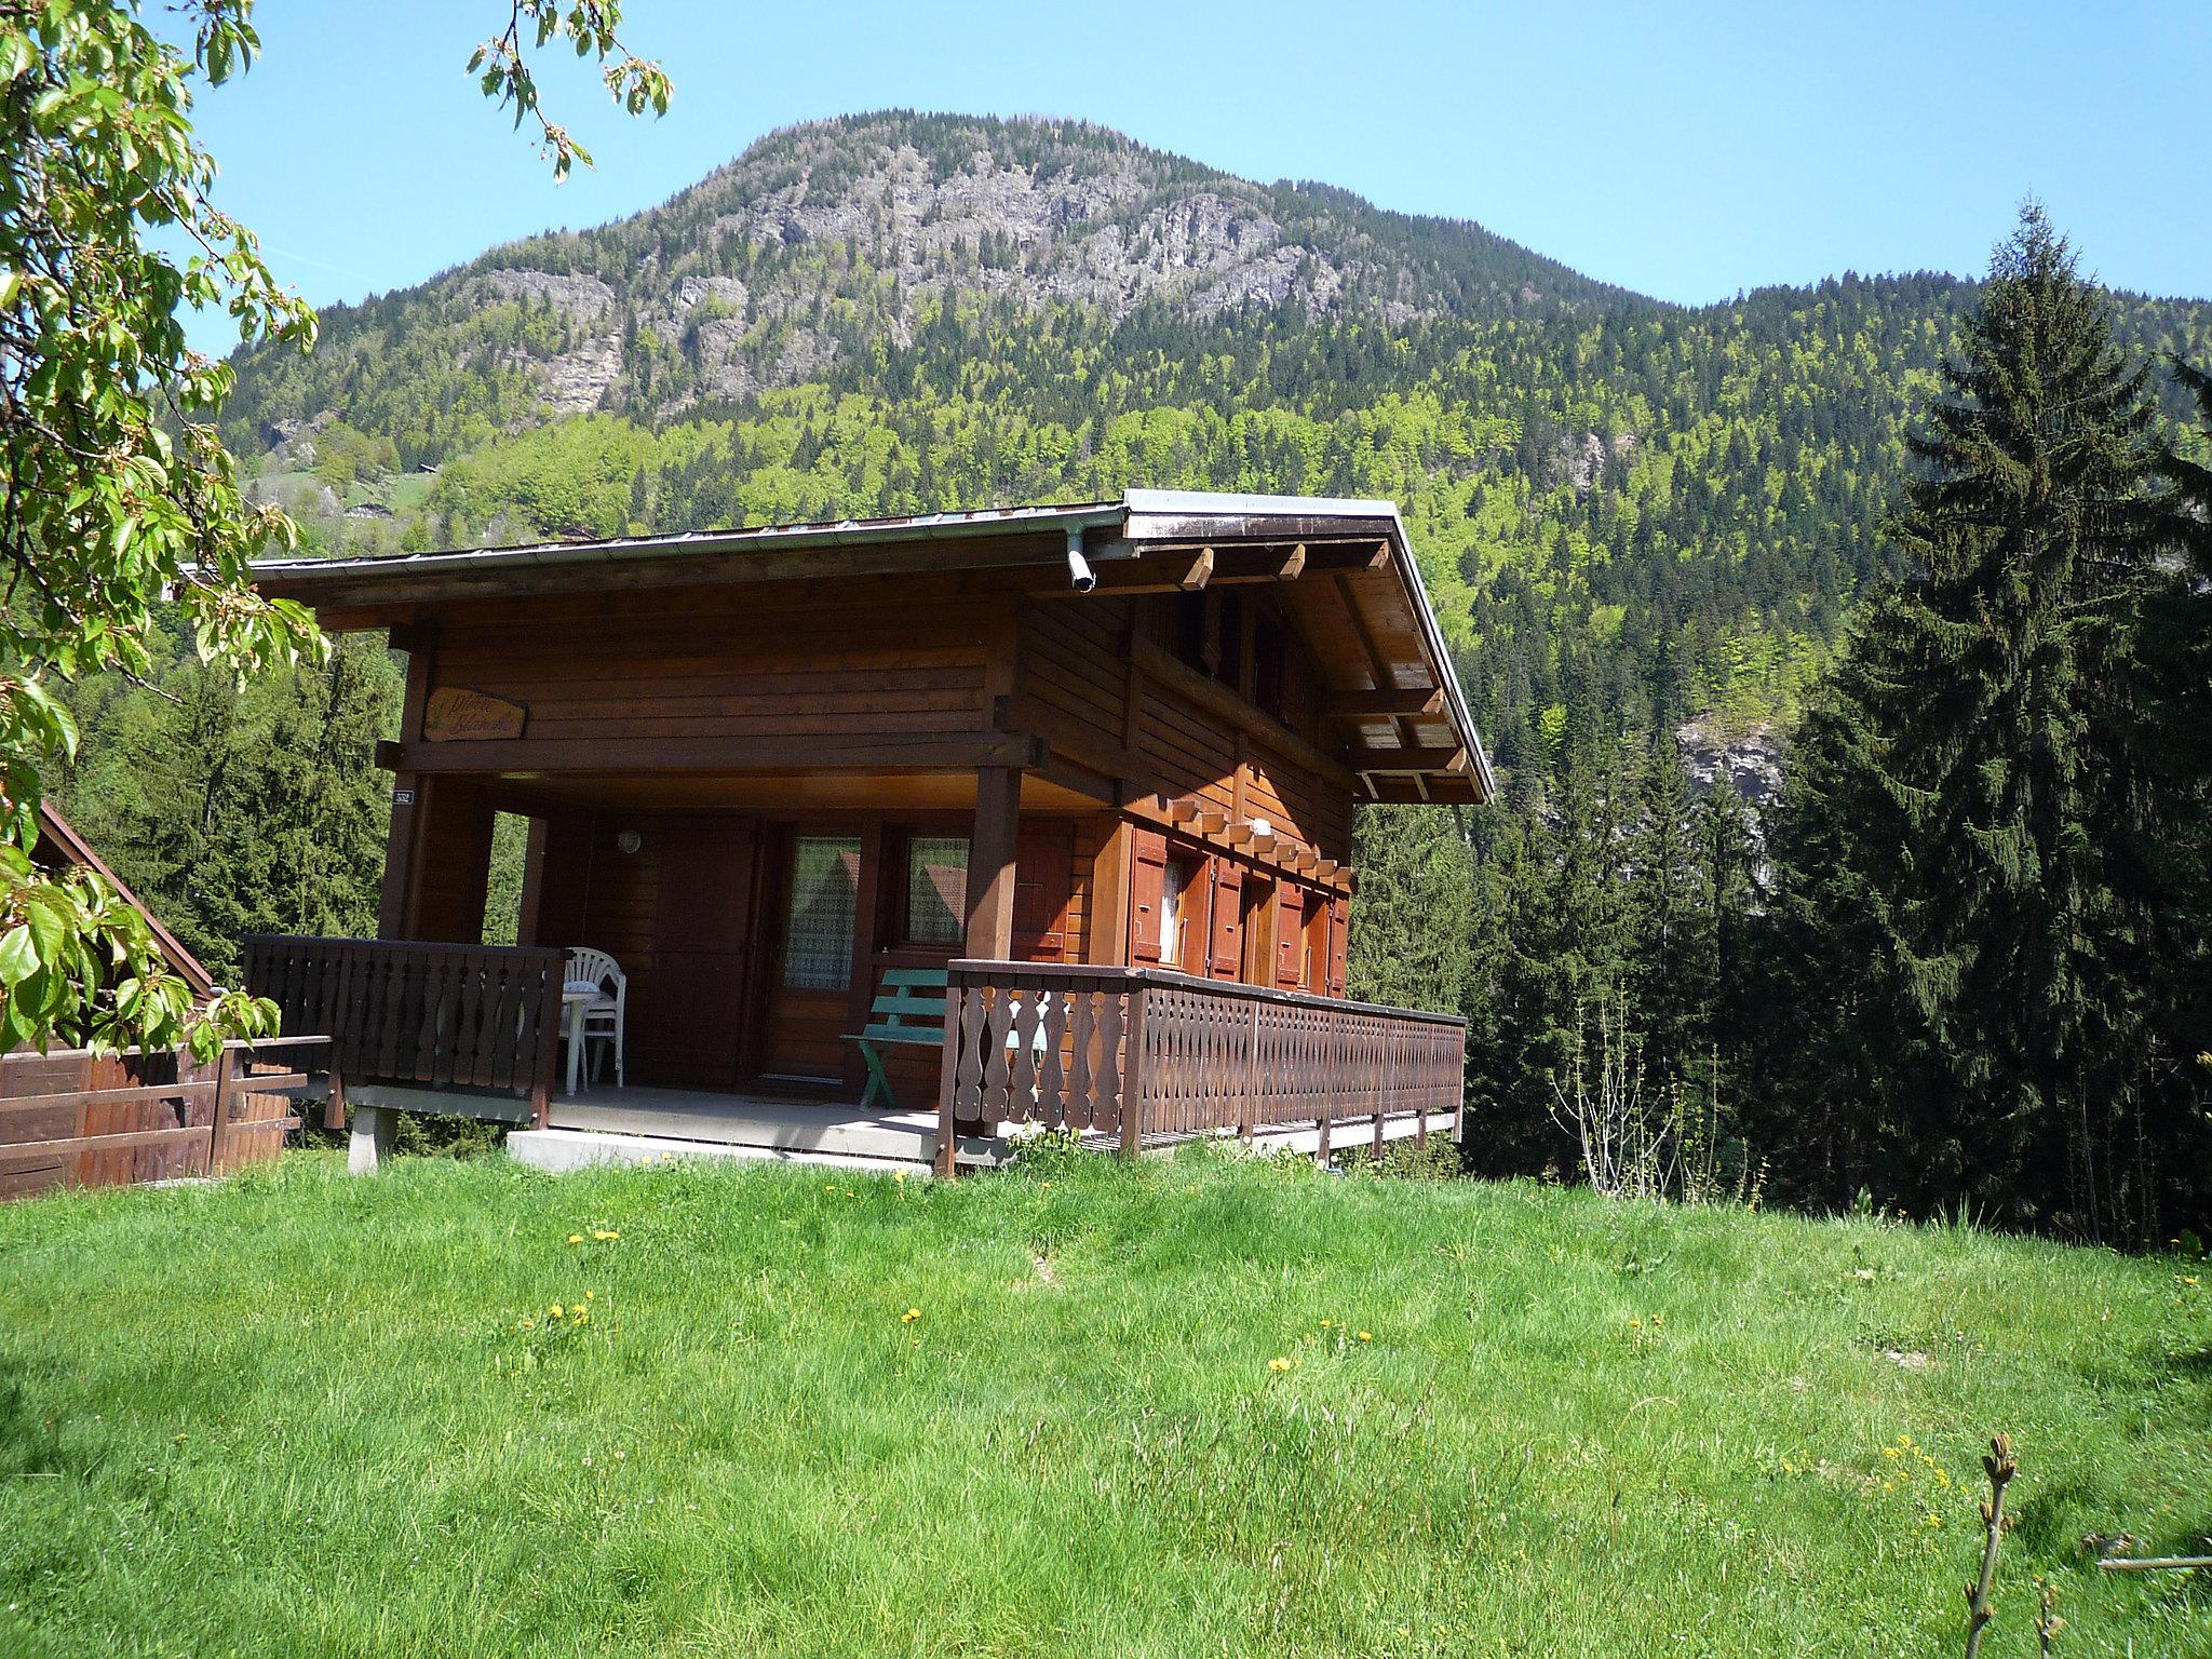
[[[1502,768],[1535,776],[1577,723],[1725,748],[1787,721],[1885,566],[1971,301],[1922,272],[1677,307],[1097,126],[880,113],[330,307],[312,358],[241,358],[226,429],[334,551],[1391,495]],[[2212,356],[2212,305],[2112,303],[2137,352]]]

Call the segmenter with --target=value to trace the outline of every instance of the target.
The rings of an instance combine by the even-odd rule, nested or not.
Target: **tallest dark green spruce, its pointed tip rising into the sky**
[[[1927,473],[1891,526],[1905,575],[1854,646],[1827,739],[1834,818],[1792,847],[1838,860],[1798,863],[1798,902],[1845,900],[1801,916],[1798,991],[1818,995],[1823,962],[1854,964],[1878,995],[1838,987],[1834,1013],[1876,1066],[1920,1037],[1880,1024],[1924,1022],[1947,1097],[1902,1102],[1900,1128],[1938,1190],[2108,1237],[2148,902],[2128,858],[2128,710],[2161,584],[2152,409],[2039,208],[1997,250],[1942,385],[1913,440]],[[1854,956],[1832,949],[1838,927],[1863,929]]]

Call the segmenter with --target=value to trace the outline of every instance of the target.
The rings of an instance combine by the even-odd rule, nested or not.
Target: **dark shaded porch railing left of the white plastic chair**
[[[544,1124],[560,1053],[557,949],[250,933],[246,987],[285,1031],[332,1035],[332,1088],[447,1095],[447,1110]],[[469,1097],[484,1102],[476,1106]]]

